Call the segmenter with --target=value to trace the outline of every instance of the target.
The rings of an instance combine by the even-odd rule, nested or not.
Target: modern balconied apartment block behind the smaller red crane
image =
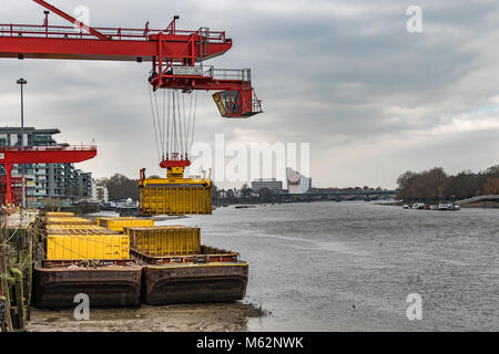
[[[8,146],[64,146],[58,144],[53,135],[57,128],[37,129],[34,127],[0,127],[0,148]],[[0,174],[4,175],[0,165]],[[22,176],[22,165],[17,164],[12,177]],[[27,164],[27,195],[31,199],[64,198],[90,200],[92,198],[92,174],[75,169],[73,164]]]

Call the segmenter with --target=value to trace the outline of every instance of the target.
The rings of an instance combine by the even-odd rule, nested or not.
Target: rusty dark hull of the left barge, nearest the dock
[[[141,303],[142,267],[34,267],[37,308],[74,308],[74,296],[89,295],[91,308],[136,306]]]

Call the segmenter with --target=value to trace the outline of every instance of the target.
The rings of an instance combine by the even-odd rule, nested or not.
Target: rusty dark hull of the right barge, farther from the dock
[[[238,253],[207,246],[201,254],[150,257],[135,249],[142,264],[142,300],[151,305],[228,302],[244,299],[248,263]]]

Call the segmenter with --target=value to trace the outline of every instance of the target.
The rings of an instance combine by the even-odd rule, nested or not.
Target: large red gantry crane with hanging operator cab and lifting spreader
[[[150,29],[149,22],[142,29],[91,28],[45,1],[33,1],[73,25],[49,25],[49,11],[44,11],[43,24],[0,24],[0,58],[152,62],[149,82],[154,92],[157,88],[184,93],[216,91],[213,98],[223,117],[262,113],[249,69],[221,70],[202,65],[232,48],[232,39],[226,38],[225,32],[207,28],[177,30],[177,15],[161,30]],[[183,129],[182,125],[180,128]],[[166,150],[160,166],[172,168],[190,164],[186,150],[183,154]]]

